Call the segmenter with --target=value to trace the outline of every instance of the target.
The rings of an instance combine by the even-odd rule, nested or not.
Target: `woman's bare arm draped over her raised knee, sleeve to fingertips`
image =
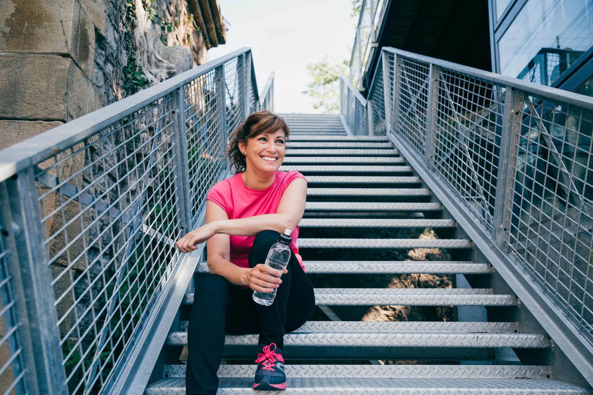
[[[211,222],[206,221],[204,226],[187,233],[177,242],[177,247],[181,252],[190,252],[197,249],[197,244],[215,235],[256,236],[262,230],[283,233],[285,229],[295,229],[305,212],[305,200],[307,200],[307,181],[304,178],[297,178],[282,194],[276,214],[229,220],[225,213],[224,219],[213,218]],[[208,217],[209,203],[215,204],[211,201],[206,203],[206,217]],[[218,205],[216,207],[220,208]],[[224,213],[224,210],[222,211]]]

